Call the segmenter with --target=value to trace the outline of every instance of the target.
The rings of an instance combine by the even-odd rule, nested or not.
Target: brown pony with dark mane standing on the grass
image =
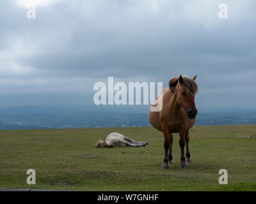
[[[169,81],[169,87],[163,89],[163,92],[157,96],[157,103],[162,104],[159,112],[153,112],[152,105],[148,112],[148,120],[150,124],[163,132],[164,135],[164,164],[163,169],[169,168],[168,163],[172,163],[172,133],[180,135],[181,163],[180,168],[186,168],[190,163],[189,153],[189,129],[196,122],[196,106],[195,94],[198,92],[198,87],[195,83],[196,76],[192,79],[187,76],[173,77]],[[160,101],[162,100],[162,101]],[[155,102],[156,102],[155,101]],[[156,104],[156,103],[154,103]],[[184,156],[184,147],[186,142],[186,161]],[[169,149],[169,154],[168,154]]]

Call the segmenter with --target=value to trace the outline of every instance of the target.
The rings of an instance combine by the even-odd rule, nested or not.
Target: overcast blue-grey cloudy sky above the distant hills
[[[29,0],[0,2],[0,106],[92,105],[108,77],[198,75],[199,108],[256,110],[256,1],[35,2],[35,19]]]

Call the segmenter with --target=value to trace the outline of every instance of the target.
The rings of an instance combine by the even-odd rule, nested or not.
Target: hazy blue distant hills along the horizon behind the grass
[[[109,128],[150,126],[147,107],[20,106],[0,108],[0,129]],[[256,124],[256,112],[199,112],[196,125]]]

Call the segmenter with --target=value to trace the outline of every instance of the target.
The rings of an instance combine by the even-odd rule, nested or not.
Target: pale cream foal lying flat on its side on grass
[[[137,142],[120,133],[110,133],[106,141],[99,140],[95,147],[141,147],[148,145],[148,142]]]

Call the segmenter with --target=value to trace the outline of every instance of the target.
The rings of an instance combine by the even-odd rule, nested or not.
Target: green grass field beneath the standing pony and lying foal
[[[95,148],[118,132],[147,147]],[[0,188],[83,191],[255,191],[256,126],[196,126],[190,133],[191,163],[180,169],[179,135],[173,163],[162,170],[163,135],[153,128],[0,131]],[[92,155],[83,157],[84,155]],[[26,171],[36,170],[36,185]],[[220,185],[218,171],[228,171]]]

